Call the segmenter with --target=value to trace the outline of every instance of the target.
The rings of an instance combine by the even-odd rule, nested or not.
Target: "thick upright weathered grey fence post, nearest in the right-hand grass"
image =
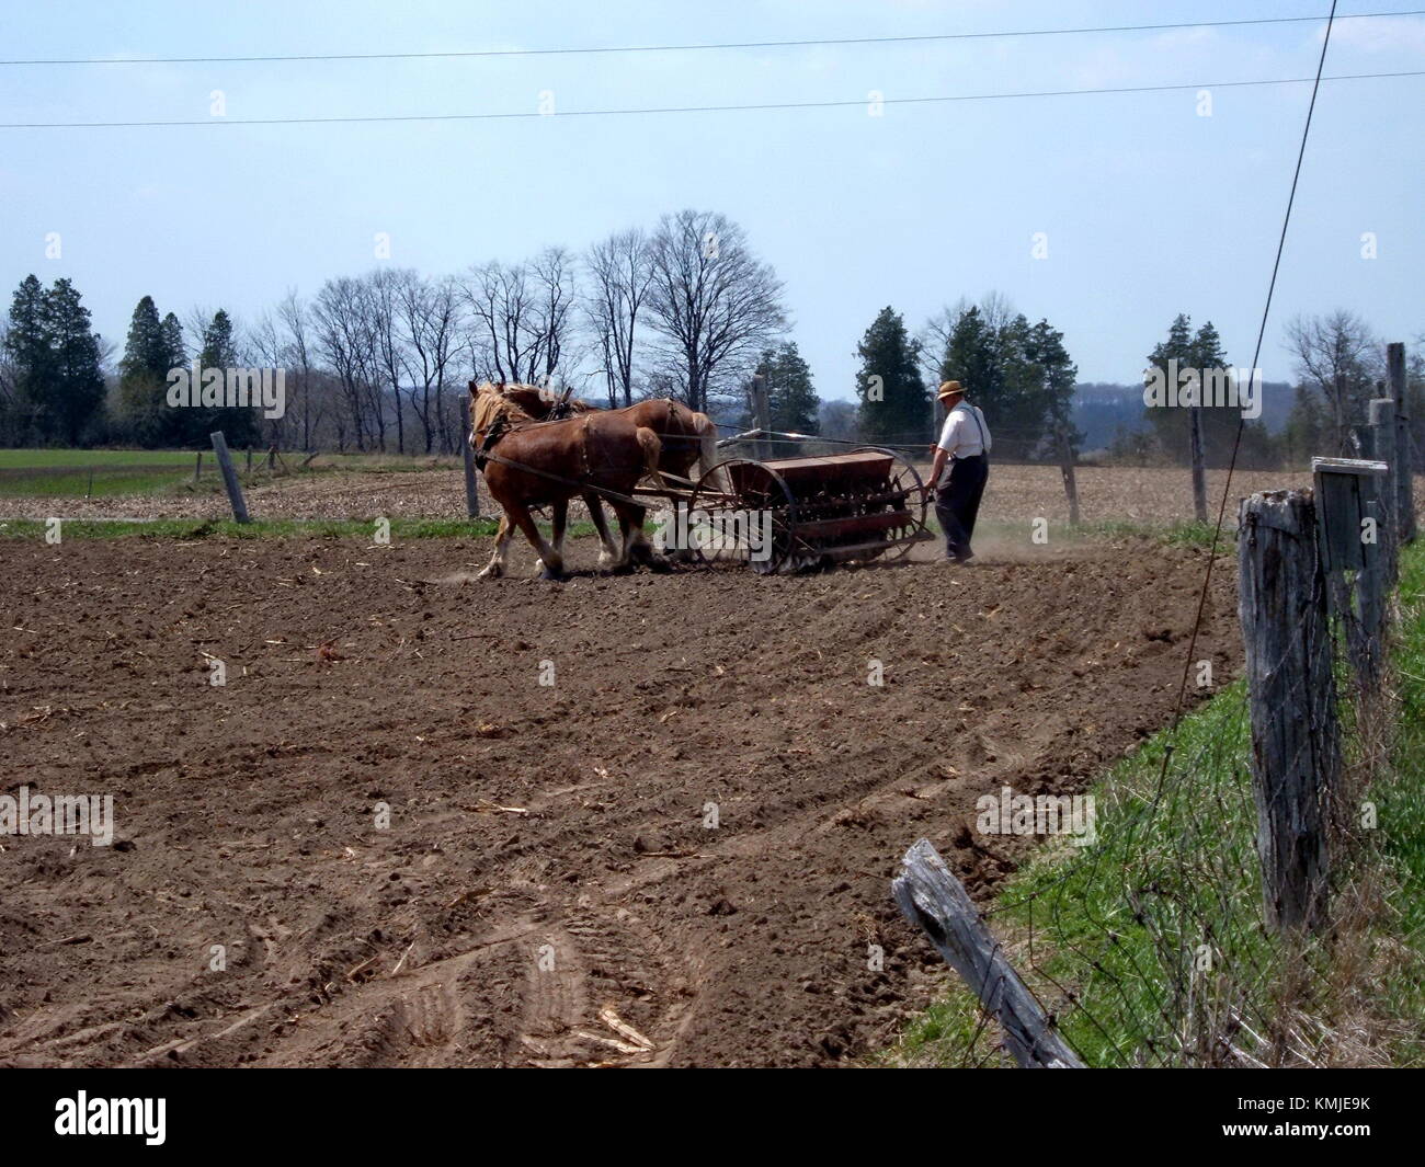
[[[1341,771],[1325,576],[1310,490],[1243,499],[1238,617],[1267,926],[1327,920],[1328,826]]]

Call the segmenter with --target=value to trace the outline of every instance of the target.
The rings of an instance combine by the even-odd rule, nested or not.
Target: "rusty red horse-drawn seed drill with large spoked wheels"
[[[728,459],[684,497],[681,517],[704,563],[742,563],[764,574],[903,559],[935,537],[926,530],[915,466],[876,446],[815,457]]]

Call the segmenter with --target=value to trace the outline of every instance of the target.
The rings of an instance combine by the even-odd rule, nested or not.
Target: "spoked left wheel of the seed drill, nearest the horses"
[[[677,522],[703,563],[747,564],[771,576],[795,550],[797,500],[781,474],[761,462],[730,457],[708,467],[685,506]],[[738,539],[748,522],[757,524],[752,539]]]

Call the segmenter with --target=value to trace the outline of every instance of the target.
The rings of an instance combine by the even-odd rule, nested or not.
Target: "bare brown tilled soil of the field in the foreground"
[[[1167,721],[1206,561],[551,586],[486,556],[3,544],[0,784],[113,794],[121,842],[0,839],[0,1064],[855,1060],[949,976],[899,856],[992,892],[1023,851],[973,799],[1077,789]]]

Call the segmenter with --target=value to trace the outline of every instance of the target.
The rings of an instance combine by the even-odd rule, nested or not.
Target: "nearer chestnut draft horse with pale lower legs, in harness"
[[[590,517],[603,541],[600,567],[616,570],[638,560],[663,566],[643,530],[646,507],[600,496],[584,484],[628,494],[644,474],[657,474],[661,443],[657,433],[634,419],[611,412],[589,412],[556,422],[532,422],[493,385],[470,383],[470,446],[484,463],[484,484],[504,514],[494,536],[494,554],[480,573],[503,576],[512,524],[519,527],[540,557],[540,576],[564,574],[563,541],[569,500],[589,503]],[[613,551],[598,507],[604,497],[618,516],[623,549]],[[534,526],[532,507],[549,506],[554,541],[547,543]],[[611,560],[611,563],[610,563]]]

